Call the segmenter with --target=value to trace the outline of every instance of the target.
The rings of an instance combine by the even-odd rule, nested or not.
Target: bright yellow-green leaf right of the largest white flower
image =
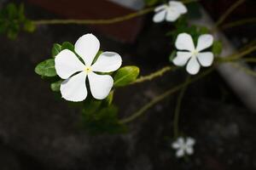
[[[140,70],[137,66],[125,66],[120,68],[113,77],[114,86],[122,87],[136,81],[139,72]]]

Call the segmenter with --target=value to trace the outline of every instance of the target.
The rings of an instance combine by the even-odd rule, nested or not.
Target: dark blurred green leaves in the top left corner
[[[32,32],[35,25],[31,20],[26,19],[24,5],[9,3],[0,9],[0,33],[6,34],[10,39],[15,39],[20,31]]]

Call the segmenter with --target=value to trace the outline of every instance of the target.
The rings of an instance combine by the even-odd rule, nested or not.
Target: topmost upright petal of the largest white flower
[[[92,64],[99,49],[100,42],[93,34],[85,34],[84,36],[79,37],[79,40],[75,43],[75,52],[84,59],[86,66]]]

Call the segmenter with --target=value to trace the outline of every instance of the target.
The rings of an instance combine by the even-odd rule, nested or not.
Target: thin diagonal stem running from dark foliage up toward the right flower
[[[213,71],[213,67],[208,69],[207,71],[201,73],[201,75],[189,80],[188,82],[183,82],[179,85],[177,85],[175,88],[171,88],[169,90],[167,90],[164,94],[160,94],[159,96],[155,97],[154,99],[152,99],[147,105],[144,105],[139,111],[135,112],[134,114],[132,114],[131,116],[126,117],[123,120],[120,120],[120,123],[128,123],[128,122],[132,122],[133,120],[135,120],[137,117],[142,116],[143,113],[145,111],[147,111],[149,108],[151,108],[153,105],[157,104],[158,102],[160,102],[161,100],[165,99],[166,97],[170,96],[171,94],[174,94],[175,92],[177,92],[178,90],[180,90],[181,88],[183,88],[184,86],[187,86],[193,82],[196,82],[197,80],[201,79],[202,77],[207,76],[208,74],[210,74]]]

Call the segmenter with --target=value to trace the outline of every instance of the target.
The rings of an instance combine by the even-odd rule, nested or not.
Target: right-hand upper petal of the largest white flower
[[[122,58],[119,54],[113,52],[104,52],[91,65],[92,71],[111,72],[116,71],[122,65]]]

